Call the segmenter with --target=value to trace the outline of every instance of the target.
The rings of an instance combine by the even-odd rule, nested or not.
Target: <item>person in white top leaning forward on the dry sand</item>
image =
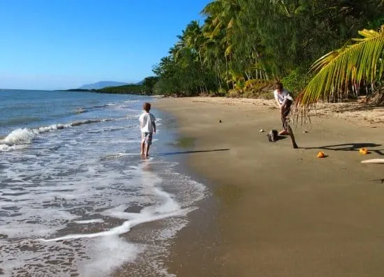
[[[293,98],[289,95],[289,91],[283,88],[281,82],[276,82],[274,88],[274,99],[279,106],[281,122],[283,122],[283,130],[281,130],[279,135],[289,135],[287,117],[290,112],[290,105],[293,103]]]

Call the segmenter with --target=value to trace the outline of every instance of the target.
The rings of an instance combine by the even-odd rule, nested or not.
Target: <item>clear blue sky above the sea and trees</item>
[[[139,82],[211,0],[0,0],[0,88]]]

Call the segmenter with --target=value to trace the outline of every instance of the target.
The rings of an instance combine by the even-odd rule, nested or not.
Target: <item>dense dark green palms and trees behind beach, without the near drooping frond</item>
[[[205,21],[190,22],[154,66],[154,93],[252,97],[274,80],[302,91],[315,74],[313,61],[362,29],[378,29],[384,6],[383,0],[215,0],[202,15]]]

